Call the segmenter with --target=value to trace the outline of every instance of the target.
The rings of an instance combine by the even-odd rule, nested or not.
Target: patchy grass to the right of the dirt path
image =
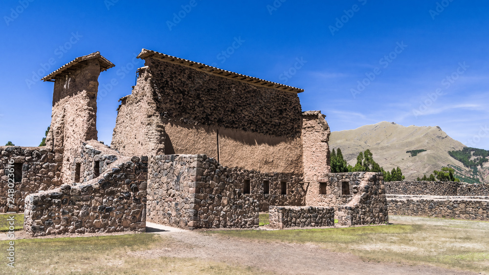
[[[365,261],[433,264],[489,273],[489,223],[389,217],[394,224],[341,229],[213,231],[241,239],[312,243]],[[414,220],[414,222],[413,222]]]

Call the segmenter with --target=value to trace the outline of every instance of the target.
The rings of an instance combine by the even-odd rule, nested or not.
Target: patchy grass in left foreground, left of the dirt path
[[[0,274],[254,274],[256,270],[192,258],[134,256],[165,247],[155,234],[16,240],[15,269],[0,265]],[[0,247],[6,247],[1,241]],[[6,254],[1,250],[0,256]],[[5,260],[6,261],[6,260]]]

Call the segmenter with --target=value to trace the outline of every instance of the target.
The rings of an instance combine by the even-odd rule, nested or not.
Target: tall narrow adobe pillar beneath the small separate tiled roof
[[[64,156],[63,183],[72,183],[71,164],[81,143],[97,139],[96,99],[100,64],[96,59],[85,63],[54,83],[51,128],[46,137],[46,147]]]

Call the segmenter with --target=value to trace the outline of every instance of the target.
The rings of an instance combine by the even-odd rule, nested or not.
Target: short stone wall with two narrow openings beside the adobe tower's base
[[[74,183],[88,182],[102,173],[117,160],[117,153],[98,141],[84,142],[80,156],[71,165],[71,180]],[[80,168],[77,169],[77,166]]]

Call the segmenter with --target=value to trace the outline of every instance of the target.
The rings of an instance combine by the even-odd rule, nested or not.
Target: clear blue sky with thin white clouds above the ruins
[[[282,1],[3,0],[0,144],[39,145],[53,91],[39,79],[95,51],[116,65],[99,78],[99,140],[110,143],[147,48],[303,88],[303,110],[321,110],[333,131],[440,126],[489,149],[487,0]]]

